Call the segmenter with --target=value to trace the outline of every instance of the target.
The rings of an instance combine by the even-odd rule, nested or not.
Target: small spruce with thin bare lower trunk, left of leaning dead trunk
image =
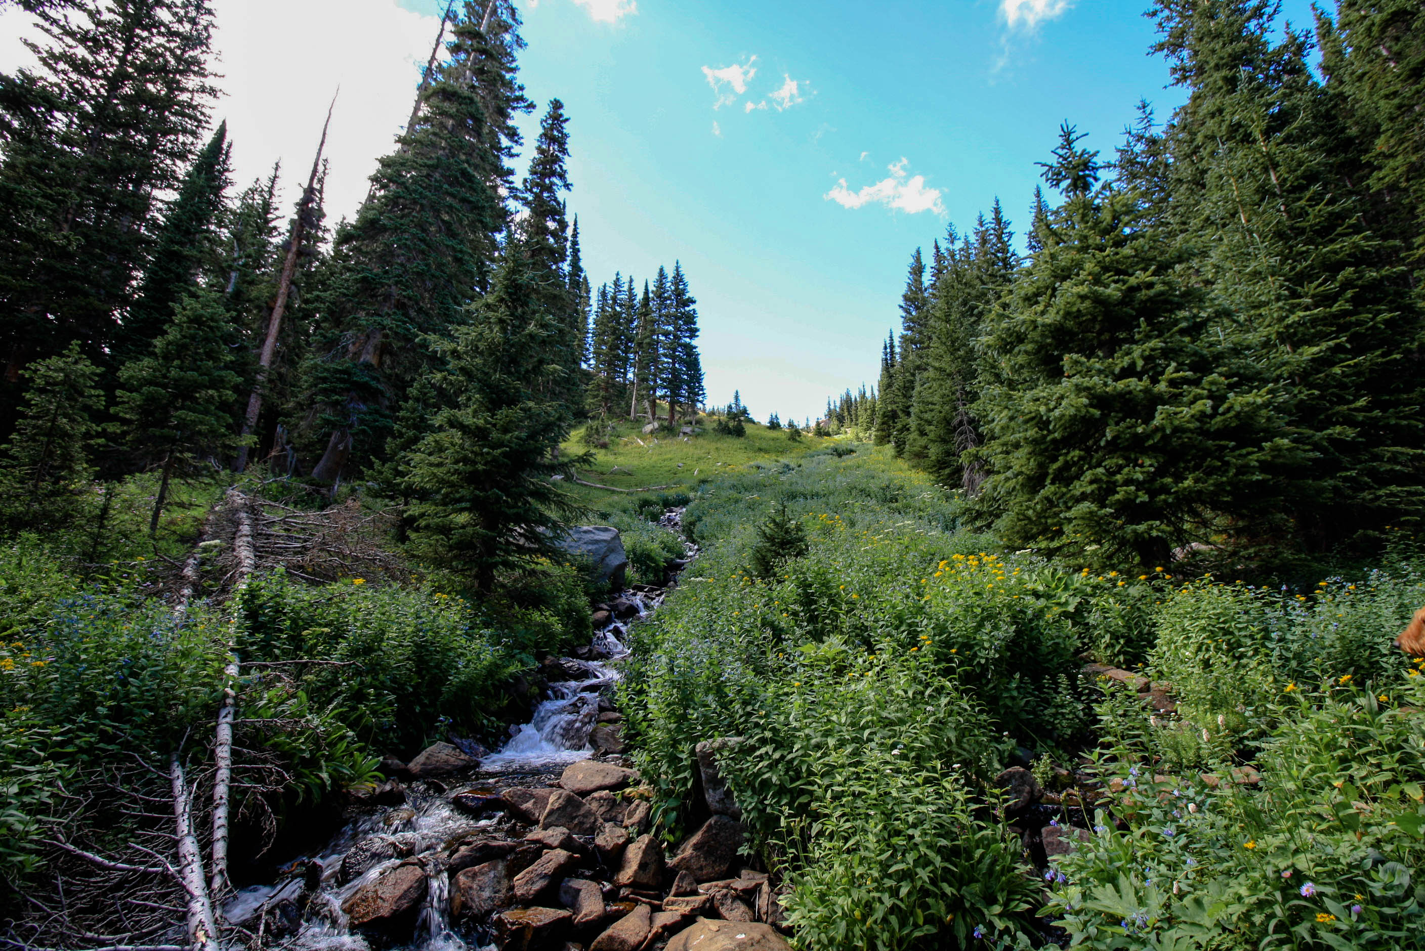
[[[231,369],[235,336],[222,298],[197,289],[174,306],[168,329],[154,340],[150,354],[118,372],[118,421],[110,429],[160,473],[151,535],[158,532],[170,483],[192,471],[201,457],[225,453],[237,443],[234,400],[241,377]]]

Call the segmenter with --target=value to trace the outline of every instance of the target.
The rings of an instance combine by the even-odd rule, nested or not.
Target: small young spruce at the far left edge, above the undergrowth
[[[90,490],[90,450],[104,399],[100,370],[71,343],[24,370],[24,406],[0,447],[0,495],[13,531],[71,520]]]

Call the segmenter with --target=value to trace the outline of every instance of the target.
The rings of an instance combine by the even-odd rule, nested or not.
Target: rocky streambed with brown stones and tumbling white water
[[[677,531],[680,517],[660,524]],[[621,756],[618,661],[664,592],[636,585],[600,605],[590,645],[546,661],[544,698],[497,752],[455,742],[388,757],[348,824],[285,878],[239,891],[227,920],[258,947],[309,951],[787,948],[774,883],[738,858],[715,747],[700,749],[712,814],[671,850]]]

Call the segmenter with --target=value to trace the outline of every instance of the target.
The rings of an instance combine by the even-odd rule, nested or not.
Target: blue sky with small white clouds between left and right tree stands
[[[996,195],[1022,231],[1062,120],[1112,152],[1140,97],[1181,101],[1130,0],[627,7],[522,3],[522,78],[570,114],[591,280],[681,259],[708,399],[758,419],[874,383],[911,252]]]

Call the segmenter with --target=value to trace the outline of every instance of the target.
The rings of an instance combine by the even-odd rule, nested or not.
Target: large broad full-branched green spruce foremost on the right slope
[[[1010,545],[1119,567],[1273,530],[1302,461],[1275,387],[1210,332],[1181,248],[1139,226],[1143,202],[1099,182],[1080,138],[1062,130],[1045,178],[1064,204],[988,327],[982,511]]]

